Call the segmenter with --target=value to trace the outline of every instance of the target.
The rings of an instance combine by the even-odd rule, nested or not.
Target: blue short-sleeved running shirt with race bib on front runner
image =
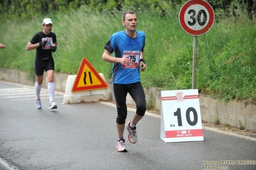
[[[114,63],[112,68],[112,82],[116,84],[130,84],[141,81],[139,73],[139,60],[141,51],[144,51],[145,34],[136,31],[137,37],[130,38],[125,31],[114,33],[105,45],[105,49],[114,53],[115,58],[129,56],[132,65],[125,66],[121,63]]]

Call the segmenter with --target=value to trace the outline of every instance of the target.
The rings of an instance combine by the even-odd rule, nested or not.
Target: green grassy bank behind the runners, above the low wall
[[[193,36],[183,31],[178,12],[166,18],[149,12],[137,14],[137,29],[146,33],[143,86],[191,89]],[[121,13],[109,15],[85,9],[1,23],[0,42],[6,45],[6,49],[0,50],[1,68],[33,73],[35,50],[27,51],[26,45],[42,30],[44,17],[53,19],[52,31],[57,36],[58,49],[53,54],[56,72],[76,74],[85,57],[110,79],[112,64],[104,62],[101,56],[110,36],[124,29]],[[256,27],[244,15],[214,22],[210,31],[198,36],[196,88],[223,101],[255,101],[255,37]]]

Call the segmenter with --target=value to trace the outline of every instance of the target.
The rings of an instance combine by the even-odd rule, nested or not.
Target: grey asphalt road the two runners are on
[[[0,81],[0,170],[256,169],[255,138],[203,127],[204,141],[165,143],[160,116],[149,112],[137,124],[138,143],[126,140],[128,152],[118,153],[115,105],[62,104],[63,95],[49,110],[42,89],[42,109],[35,109],[34,87]]]

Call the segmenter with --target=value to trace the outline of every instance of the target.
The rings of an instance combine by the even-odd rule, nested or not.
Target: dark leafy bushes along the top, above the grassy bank
[[[172,10],[179,10],[182,4],[187,0],[2,0],[0,1],[0,14],[1,20],[14,19],[14,18],[29,18],[37,15],[38,13],[46,15],[49,13],[69,13],[79,8],[90,8],[96,12],[107,12],[117,14],[119,11],[134,10],[141,11],[150,10],[158,12],[162,17],[168,16]],[[239,6],[246,6],[247,13],[252,11],[253,0],[209,0],[208,1],[214,10],[222,9],[225,15],[235,15],[235,13],[228,13],[230,8],[239,8]],[[234,11],[233,11],[234,12]],[[250,15],[249,15],[250,16]]]

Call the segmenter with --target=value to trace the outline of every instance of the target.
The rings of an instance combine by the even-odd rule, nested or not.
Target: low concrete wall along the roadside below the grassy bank
[[[55,73],[55,88],[58,91],[68,91],[66,89],[67,77],[69,75],[64,73]],[[19,84],[26,84],[29,86],[35,85],[35,78],[31,77],[31,73],[20,72],[17,70],[0,68],[0,80],[15,82]],[[112,95],[111,81],[107,80],[109,98],[114,100]],[[47,87],[46,77],[43,83],[44,87]],[[152,105],[159,111],[161,110],[161,91],[157,88],[144,88],[146,94],[146,101],[148,105]],[[68,94],[68,93],[67,93]],[[85,95],[86,96],[86,95]],[[101,96],[102,97],[102,96]],[[83,98],[82,98],[83,100]],[[93,100],[93,99],[90,99]],[[94,99],[95,100],[95,99]],[[214,121],[219,120],[221,124],[229,124],[235,127],[241,125],[246,127],[247,130],[256,132],[256,105],[244,104],[244,102],[219,102],[216,99],[212,99],[207,95],[200,95],[200,111],[201,120]],[[135,105],[132,97],[128,95],[126,97],[126,103]]]

